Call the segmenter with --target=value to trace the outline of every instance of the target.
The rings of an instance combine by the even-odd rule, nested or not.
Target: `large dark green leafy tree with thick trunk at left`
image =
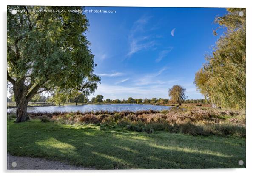
[[[62,7],[81,10],[82,7]],[[22,9],[13,15],[9,9]],[[37,11],[28,11],[36,9]],[[27,104],[43,91],[74,88],[92,93],[100,78],[85,36],[81,13],[52,13],[57,7],[7,7],[7,80],[16,102],[17,122],[28,120]]]

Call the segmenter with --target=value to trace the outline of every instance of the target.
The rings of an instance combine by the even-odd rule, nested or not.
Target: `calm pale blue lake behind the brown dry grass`
[[[44,106],[28,107],[27,112],[75,112],[75,111],[139,111],[139,110],[169,110],[171,106],[156,106],[151,104],[87,104],[68,106]],[[7,109],[7,112],[15,112],[16,108]]]

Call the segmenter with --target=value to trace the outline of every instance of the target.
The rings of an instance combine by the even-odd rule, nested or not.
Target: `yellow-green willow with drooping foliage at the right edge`
[[[245,8],[227,8],[215,22],[223,27],[207,63],[196,73],[199,91],[220,107],[245,108]],[[205,79],[207,77],[207,79]]]

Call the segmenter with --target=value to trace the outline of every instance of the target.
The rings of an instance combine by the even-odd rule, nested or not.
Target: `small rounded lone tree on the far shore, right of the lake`
[[[185,91],[186,89],[180,85],[174,85],[170,88],[169,96],[171,98],[171,103],[181,105],[181,103],[186,99]]]

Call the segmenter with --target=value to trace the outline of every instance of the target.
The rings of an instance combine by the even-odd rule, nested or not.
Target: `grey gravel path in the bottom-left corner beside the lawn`
[[[7,170],[87,170],[88,168],[68,165],[63,162],[41,158],[17,157],[7,154]]]

